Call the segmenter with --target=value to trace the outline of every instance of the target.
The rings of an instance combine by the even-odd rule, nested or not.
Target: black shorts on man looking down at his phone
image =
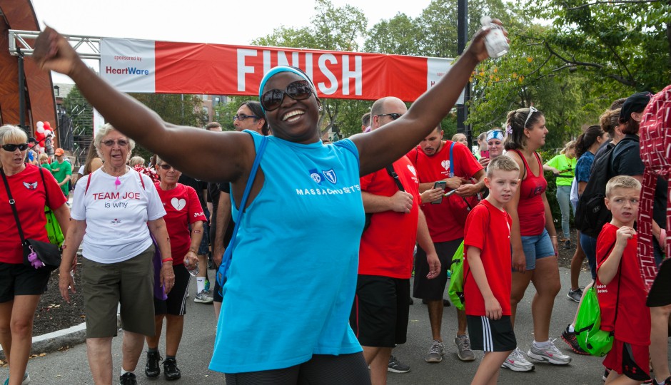
[[[445,293],[445,284],[448,283],[448,270],[452,265],[452,257],[457,251],[463,238],[451,240],[448,242],[434,243],[435,252],[440,260],[440,274],[438,277],[428,279],[429,265],[426,262],[426,252],[421,247],[417,247],[415,255],[415,282],[413,283],[413,297],[439,301],[443,299]]]

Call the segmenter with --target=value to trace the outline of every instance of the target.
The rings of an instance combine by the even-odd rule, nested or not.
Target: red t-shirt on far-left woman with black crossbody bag
[[[42,185],[40,171],[44,174],[46,190]],[[56,210],[66,202],[65,196],[54,175],[49,170],[41,170],[36,165],[26,164],[21,173],[6,177],[9,183],[11,196],[14,198],[16,211],[19,214],[21,230],[26,239],[49,242],[46,235],[46,217],[44,206]],[[45,191],[49,193],[49,203],[46,204]],[[16,229],[16,220],[9,205],[7,189],[2,183],[0,187],[0,262],[23,263],[24,251],[21,247],[21,237]]]

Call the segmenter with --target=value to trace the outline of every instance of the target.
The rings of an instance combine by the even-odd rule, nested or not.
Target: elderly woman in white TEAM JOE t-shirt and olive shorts
[[[174,284],[171,250],[161,200],[150,178],[126,165],[135,143],[111,125],[94,138],[104,165],[76,185],[72,224],[63,246],[59,287],[69,302],[70,274],[82,247],[81,286],[86,313],[86,349],[96,384],[111,384],[112,337],[121,304],[121,384],[136,384],[135,370],[145,336],[153,336],[153,256],[156,239],[163,256],[161,284]]]

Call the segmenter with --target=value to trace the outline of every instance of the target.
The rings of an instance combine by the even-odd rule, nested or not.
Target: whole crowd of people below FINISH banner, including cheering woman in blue
[[[210,369],[223,372],[227,384],[385,384],[388,371],[410,370],[393,349],[406,342],[413,297],[428,308],[425,361],[443,361],[443,308],[449,304],[443,297],[453,263],[462,257],[465,306],[455,306],[457,332],[450,339],[461,361],[476,361],[474,351],[484,351],[473,384],[496,384],[500,367],[570,364],[572,357],[553,342],[558,332],[550,330],[561,290],[557,257],[560,247],[574,246],[572,195],[580,199],[585,192],[601,153],[612,158],[607,172],[614,178],[605,186],[612,220],[596,236],[579,235],[567,296],[581,301],[577,276],[587,257],[592,284],[616,309],[615,317],[605,310],[602,323],[615,338],[604,360],[606,383],[671,384],[671,300],[646,307],[635,250],[644,165],[632,143],[650,95],[616,102],[600,125],[546,163],[539,150],[549,128],[533,106],[510,111],[505,128],[481,133],[474,153],[463,134],[444,140],[440,120],[488,57],[487,33],[478,31],[451,70],[410,108],[393,96],[380,98],[362,117],[363,133],[326,143],[317,125],[321,101],[298,68],[278,66],[263,76],[259,101],[238,106],[236,132],[221,132],[216,122],[198,130],[167,123],[117,91],[46,29],[36,41],[36,62],[70,76],[109,123],[91,143],[71,209],[65,186],[72,172],[64,151],[56,149],[49,166],[39,167],[49,164],[39,159],[38,165],[26,163],[31,140],[16,126],[0,128],[6,186],[0,192],[6,199],[0,199],[10,202],[0,206],[0,242],[9,250],[0,260],[0,344],[10,367],[5,383],[30,381],[32,315],[49,279],[49,271],[23,264],[24,235],[10,229],[21,222],[26,238],[46,240],[44,206],[54,210],[65,234],[60,292],[66,301],[77,289],[84,294],[95,384],[113,383],[117,317],[123,329],[120,384],[137,383],[145,344],[146,376],[159,376],[162,361],[166,379],[181,377],[176,356],[191,275],[195,302],[214,303]],[[131,158],[136,141],[156,153],[148,168],[142,158]],[[217,167],[203,168],[203,161]],[[544,170],[557,178],[561,238]],[[659,178],[656,187],[652,235],[660,265],[666,263],[667,181]],[[18,216],[12,215],[12,190],[23,193],[16,199]],[[329,247],[316,252],[314,245],[322,244]],[[212,296],[208,267],[217,269]],[[81,287],[71,274],[76,268]],[[529,284],[535,288],[533,329],[515,333]],[[585,354],[574,326],[562,339]],[[518,348],[518,336],[532,339],[528,351]]]

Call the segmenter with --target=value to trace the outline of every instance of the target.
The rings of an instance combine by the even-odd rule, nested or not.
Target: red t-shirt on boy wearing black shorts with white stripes
[[[498,299],[503,315],[510,315],[510,291],[513,285],[513,270],[510,255],[510,226],[513,218],[508,212],[499,210],[483,200],[470,210],[466,218],[467,232],[464,234],[464,297],[468,315],[483,316],[485,299],[470,272],[466,253],[468,247],[481,250],[480,260],[485,267],[487,282],[494,297]]]

